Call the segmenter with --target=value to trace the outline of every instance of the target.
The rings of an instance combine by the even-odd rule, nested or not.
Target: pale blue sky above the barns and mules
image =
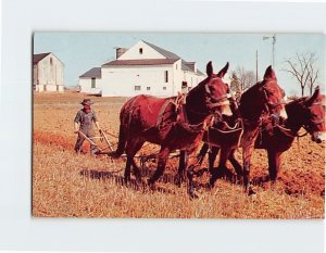
[[[202,72],[209,61],[218,72],[229,62],[230,74],[237,67],[255,73],[258,51],[258,74],[264,76],[272,65],[273,39],[263,40],[274,34],[198,34],[198,33],[35,33],[34,53],[53,52],[64,63],[64,85],[78,85],[78,77],[91,67],[115,59],[115,48],[130,48],[139,40],[156,45],[176,53],[186,61],[196,61]],[[275,34],[275,65],[278,85],[288,96],[300,94],[300,85],[283,71],[285,60],[296,53],[314,52],[315,66],[319,69],[317,85],[325,90],[326,36],[323,34]],[[305,91],[308,93],[308,90]]]

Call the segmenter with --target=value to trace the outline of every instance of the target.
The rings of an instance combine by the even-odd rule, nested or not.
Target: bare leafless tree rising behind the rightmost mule
[[[314,85],[318,78],[318,72],[315,67],[315,63],[317,58],[315,53],[306,52],[306,53],[296,53],[294,59],[287,59],[285,62],[287,63],[287,68],[283,69],[288,72],[292,77],[294,77],[301,88],[301,97],[304,96],[304,89],[308,88],[310,94],[313,93]]]

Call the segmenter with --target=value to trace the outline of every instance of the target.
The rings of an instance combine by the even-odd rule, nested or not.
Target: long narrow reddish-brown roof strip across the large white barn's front
[[[115,60],[102,66],[126,66],[126,65],[164,65],[173,64],[178,59],[141,59],[141,60]]]

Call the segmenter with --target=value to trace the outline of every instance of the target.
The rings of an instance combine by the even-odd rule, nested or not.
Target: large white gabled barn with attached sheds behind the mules
[[[177,54],[143,40],[130,49],[117,48],[116,59],[101,66],[100,77],[87,73],[79,77],[80,90],[89,90],[88,87],[98,84],[100,91],[97,91],[103,97],[175,96],[190,90],[205,78],[196,62],[186,62]]]

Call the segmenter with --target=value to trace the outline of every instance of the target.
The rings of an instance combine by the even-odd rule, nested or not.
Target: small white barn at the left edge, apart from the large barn
[[[33,55],[33,88],[35,91],[64,91],[63,63],[51,52]]]

